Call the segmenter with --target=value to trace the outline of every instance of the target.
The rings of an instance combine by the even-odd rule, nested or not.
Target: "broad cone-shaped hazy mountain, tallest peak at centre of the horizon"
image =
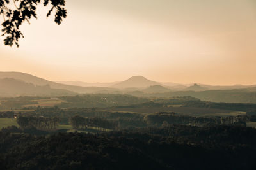
[[[116,83],[115,85],[112,85],[111,87],[115,88],[129,88],[129,87],[148,87],[151,85],[161,85],[160,83],[157,83],[156,81],[148,80],[147,78],[143,76],[133,76],[125,81],[122,81],[120,83]]]

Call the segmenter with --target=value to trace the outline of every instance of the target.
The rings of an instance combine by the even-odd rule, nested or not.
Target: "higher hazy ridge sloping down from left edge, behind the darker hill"
[[[52,89],[65,89],[77,93],[95,93],[102,90],[107,90],[108,92],[116,91],[118,89],[109,87],[81,87],[75,85],[63,85],[61,83],[55,83],[52,81],[45,80],[43,78],[38,78],[26,73],[20,72],[0,72],[0,78],[14,78],[17,80],[22,80],[26,83],[32,83],[34,85],[49,85]]]

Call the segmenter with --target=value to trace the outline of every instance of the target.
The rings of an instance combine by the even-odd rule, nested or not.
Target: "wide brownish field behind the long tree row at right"
[[[166,107],[166,108],[113,108],[109,111],[131,112],[131,113],[159,113],[159,112],[175,112],[182,115],[191,116],[237,116],[244,115],[245,112],[221,110],[215,108],[193,108],[193,107]]]

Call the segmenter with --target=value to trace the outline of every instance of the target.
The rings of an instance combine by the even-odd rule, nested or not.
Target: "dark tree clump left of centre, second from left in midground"
[[[87,127],[97,127],[100,130],[106,129],[117,129],[118,122],[106,120],[106,118],[100,117],[81,117],[79,115],[75,115],[70,117],[70,125],[72,125],[73,129],[84,129]]]

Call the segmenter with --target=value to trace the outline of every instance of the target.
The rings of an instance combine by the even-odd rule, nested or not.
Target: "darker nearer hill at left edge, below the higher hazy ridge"
[[[0,79],[0,96],[16,97],[16,96],[67,96],[76,93],[68,90],[51,89],[49,85],[33,85],[22,80],[14,78]]]

